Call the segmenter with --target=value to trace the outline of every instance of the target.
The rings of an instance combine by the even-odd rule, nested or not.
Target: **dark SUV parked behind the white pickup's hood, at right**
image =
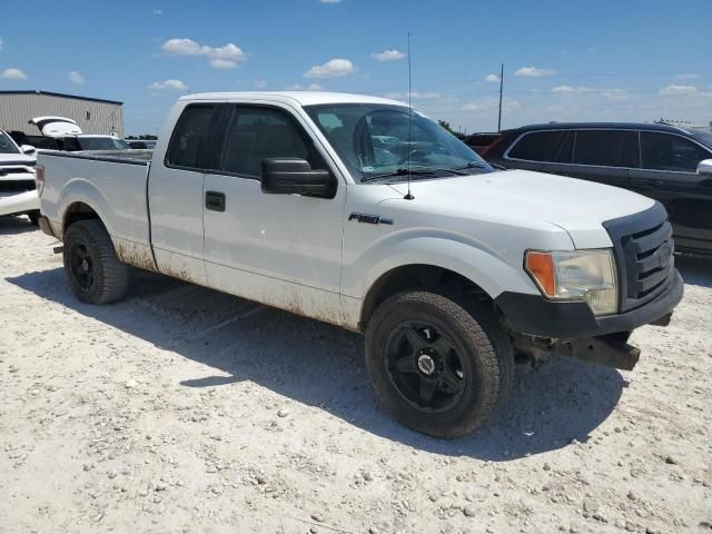
[[[481,150],[513,169],[599,181],[660,200],[679,250],[712,255],[712,132],[646,123],[548,123],[505,130]]]

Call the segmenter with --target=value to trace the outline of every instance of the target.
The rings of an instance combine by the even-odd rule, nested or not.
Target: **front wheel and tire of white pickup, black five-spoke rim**
[[[397,421],[456,438],[502,404],[514,357],[493,310],[445,294],[414,290],[385,300],[368,323],[366,368]]]

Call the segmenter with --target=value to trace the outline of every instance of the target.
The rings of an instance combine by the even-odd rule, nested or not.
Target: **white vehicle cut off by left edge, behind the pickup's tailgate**
[[[33,222],[40,202],[34,191],[34,147],[19,147],[0,130],[0,216],[27,215]]]

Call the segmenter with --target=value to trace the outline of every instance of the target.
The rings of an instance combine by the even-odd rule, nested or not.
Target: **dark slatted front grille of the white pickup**
[[[665,290],[674,273],[672,226],[665,208],[652,208],[603,224],[615,249],[620,309],[637,308]]]

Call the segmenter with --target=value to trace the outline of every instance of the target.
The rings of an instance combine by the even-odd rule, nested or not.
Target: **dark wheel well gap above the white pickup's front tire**
[[[478,300],[492,301],[490,295],[477,284],[454,270],[433,265],[405,265],[382,275],[370,287],[362,307],[359,329],[366,329],[373,313],[388,297],[406,289],[433,286],[446,286],[473,295]]]

